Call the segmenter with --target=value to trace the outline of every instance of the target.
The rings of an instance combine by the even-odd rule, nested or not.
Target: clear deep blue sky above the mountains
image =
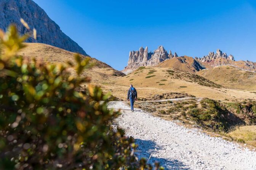
[[[191,57],[219,48],[235,60],[256,61],[253,0],[34,1],[87,54],[118,70],[141,46]]]

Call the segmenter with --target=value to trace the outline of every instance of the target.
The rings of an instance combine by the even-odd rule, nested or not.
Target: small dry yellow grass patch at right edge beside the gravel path
[[[230,132],[232,138],[242,140],[248,145],[256,147],[256,126],[241,126]]]

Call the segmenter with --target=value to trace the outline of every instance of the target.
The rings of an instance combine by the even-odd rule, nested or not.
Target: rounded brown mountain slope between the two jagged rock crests
[[[206,63],[203,64],[202,62],[186,55],[165,60],[158,64],[157,67],[176,68],[188,72],[197,72],[205,68],[211,68],[211,66],[208,66]]]

